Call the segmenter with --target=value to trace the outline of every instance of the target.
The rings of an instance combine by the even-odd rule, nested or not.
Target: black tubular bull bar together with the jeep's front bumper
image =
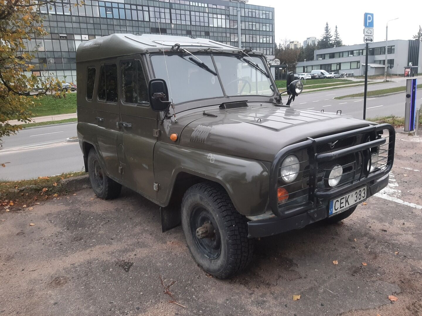
[[[381,134],[387,131],[388,136],[382,137]],[[381,134],[380,134],[381,133]],[[363,141],[361,136],[365,135],[368,139]],[[341,139],[355,139],[355,145],[340,147],[337,150],[322,152],[319,150],[321,145],[327,142],[334,144]],[[387,141],[388,140],[388,141]],[[276,233],[282,233],[288,230],[302,228],[312,222],[322,220],[328,215],[328,203],[334,198],[349,193],[363,185],[368,186],[367,198],[388,184],[388,175],[392,168],[394,160],[395,130],[390,124],[381,124],[376,126],[367,126],[352,131],[346,131],[339,134],[333,134],[319,138],[308,138],[306,141],[293,144],[283,148],[277,153],[270,171],[270,194],[269,206],[275,217],[264,220],[254,220],[248,222],[249,237],[270,236]],[[382,152],[382,167],[372,171],[364,166],[371,165],[371,151],[379,148]],[[294,203],[279,204],[277,189],[286,187],[281,185],[279,180],[280,165],[287,155],[306,151],[308,157],[306,163],[308,170],[303,170],[298,174],[303,175],[297,181],[299,185],[306,185],[287,191],[292,192],[292,198],[288,201]],[[350,156],[354,157],[352,161],[344,164],[351,169],[348,177],[335,187],[325,187],[321,184],[321,167],[324,164],[332,164],[339,159]],[[327,170],[327,169],[324,169]],[[306,172],[306,177],[304,176]],[[298,185],[298,184],[297,184]],[[293,194],[300,195],[296,197]],[[290,195],[290,193],[289,193]],[[288,196],[289,196],[288,195]]]

